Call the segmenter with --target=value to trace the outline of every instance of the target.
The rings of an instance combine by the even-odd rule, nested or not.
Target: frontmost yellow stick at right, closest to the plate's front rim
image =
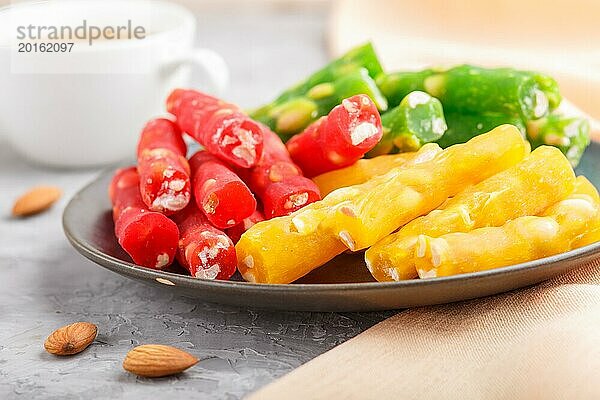
[[[415,253],[419,277],[482,271],[571,250],[590,229],[599,210],[595,188],[579,177],[575,192],[541,216],[519,217],[501,227],[438,238],[420,235]]]

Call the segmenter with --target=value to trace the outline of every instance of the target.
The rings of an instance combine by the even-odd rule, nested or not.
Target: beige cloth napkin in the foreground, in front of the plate
[[[600,399],[600,259],[540,285],[409,309],[255,399]]]

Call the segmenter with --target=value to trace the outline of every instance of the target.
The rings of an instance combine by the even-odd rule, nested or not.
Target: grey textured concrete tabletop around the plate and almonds
[[[199,43],[231,65],[229,98],[256,105],[325,61],[326,11],[212,7],[199,14]],[[106,271],[69,246],[60,222],[68,198],[97,172],[33,167],[0,142],[0,399],[238,399],[391,315],[202,304]],[[14,198],[35,184],[65,196],[47,213],[11,219]],[[90,348],[68,358],[44,351],[50,332],[79,320],[98,325]],[[136,378],[121,362],[143,343],[202,361],[179,376]]]

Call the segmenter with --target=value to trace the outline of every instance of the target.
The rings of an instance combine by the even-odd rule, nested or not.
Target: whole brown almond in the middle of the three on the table
[[[89,322],[75,322],[52,332],[44,347],[46,351],[57,356],[77,354],[85,350],[94,339],[98,328]]]

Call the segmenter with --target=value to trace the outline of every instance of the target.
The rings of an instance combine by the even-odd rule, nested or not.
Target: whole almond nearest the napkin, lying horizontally
[[[158,378],[183,372],[197,362],[196,357],[175,347],[145,344],[127,353],[123,368],[138,376]]]

